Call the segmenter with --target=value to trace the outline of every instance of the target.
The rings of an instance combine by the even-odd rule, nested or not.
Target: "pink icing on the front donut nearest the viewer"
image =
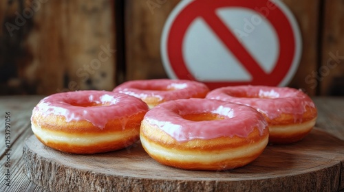
[[[221,120],[191,121],[184,115],[211,113]],[[172,136],[176,141],[215,139],[220,136],[246,137],[254,128],[267,129],[264,117],[254,108],[215,99],[167,101],[146,113],[144,120]]]

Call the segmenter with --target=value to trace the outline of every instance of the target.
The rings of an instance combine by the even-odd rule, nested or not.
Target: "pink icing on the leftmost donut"
[[[85,107],[87,104],[103,106]],[[111,119],[125,119],[147,110],[147,104],[129,95],[110,91],[75,91],[45,97],[34,107],[32,117],[36,112],[43,117],[62,115],[67,122],[86,120],[103,129]]]

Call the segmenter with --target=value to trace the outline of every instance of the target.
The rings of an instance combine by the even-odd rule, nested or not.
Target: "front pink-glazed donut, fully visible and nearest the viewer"
[[[162,165],[224,170],[255,160],[268,144],[268,124],[254,108],[215,99],[166,101],[140,129],[144,150]]]

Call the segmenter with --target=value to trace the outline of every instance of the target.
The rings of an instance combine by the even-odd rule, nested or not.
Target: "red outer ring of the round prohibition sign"
[[[264,1],[228,1],[228,0],[217,0],[211,1],[208,0],[197,0],[192,1],[187,5],[183,10],[181,10],[178,15],[175,17],[173,23],[171,24],[169,34],[166,40],[166,52],[169,62],[171,64],[171,68],[175,72],[175,75],[179,79],[191,79],[195,80],[195,77],[191,75],[189,69],[186,67],[186,62],[183,58],[182,53],[182,43],[184,39],[184,35],[186,34],[186,30],[191,25],[191,23],[199,16],[202,16],[203,19],[205,18],[208,25],[218,26],[216,23],[217,19],[208,17],[215,16],[215,10],[218,8],[226,8],[226,7],[237,7],[237,8],[248,8],[257,12],[257,8],[266,8],[267,6],[266,0]],[[270,1],[272,4],[272,2]],[[274,4],[272,4],[274,5]],[[287,75],[288,70],[292,66],[292,61],[295,54],[295,37],[292,26],[288,21],[286,15],[281,11],[281,9],[275,5],[274,9],[270,9],[269,12],[266,14],[260,14],[265,16],[268,21],[275,27],[277,32],[277,37],[279,39],[279,58],[277,58],[277,62],[275,64],[275,68],[271,71],[271,73],[267,74],[259,67],[251,63],[251,66],[246,67],[252,68],[248,70],[252,75],[252,81],[250,82],[204,82],[209,88],[219,88],[222,86],[234,86],[239,84],[264,84],[268,86],[277,86],[283,78]],[[223,23],[222,23],[223,24]],[[228,33],[227,33],[228,34]],[[231,34],[231,32],[230,32]],[[217,34],[221,35],[221,34]],[[234,38],[234,36],[233,36]],[[232,38],[232,40],[233,40]],[[242,46],[241,46],[242,48]],[[244,60],[241,60],[241,63],[244,62],[246,64],[254,61],[252,56],[245,55],[243,56],[241,53],[244,53],[244,49],[230,49],[236,57],[242,57]],[[246,52],[247,53],[247,52]]]

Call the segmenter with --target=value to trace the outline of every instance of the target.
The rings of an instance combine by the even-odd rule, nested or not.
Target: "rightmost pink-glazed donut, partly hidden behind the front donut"
[[[294,143],[314,127],[316,107],[305,93],[295,88],[272,86],[228,86],[206,96],[257,109],[269,124],[270,143]]]

